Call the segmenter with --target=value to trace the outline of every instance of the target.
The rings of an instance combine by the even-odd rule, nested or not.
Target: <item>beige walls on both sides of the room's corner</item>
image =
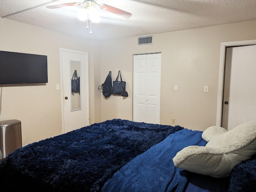
[[[138,46],[137,37],[98,42],[0,19],[0,50],[48,55],[46,85],[3,85],[0,121],[22,121],[23,145],[62,133],[60,48],[88,52],[90,123],[132,120],[132,55],[162,52],[160,123],[174,125],[175,118],[178,125],[204,130],[216,124],[220,43],[250,39],[256,39],[256,20],[154,34],[153,45]],[[110,70],[114,80],[118,69],[129,97],[105,100],[98,86]]]

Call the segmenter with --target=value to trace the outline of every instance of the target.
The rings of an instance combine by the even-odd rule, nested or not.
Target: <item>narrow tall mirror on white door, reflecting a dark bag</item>
[[[70,111],[77,111],[81,110],[81,95],[80,95],[80,71],[81,71],[81,62],[80,61],[70,61],[70,76],[71,83],[70,83]],[[73,82],[72,82],[73,81]],[[77,83],[79,87],[77,86]],[[73,87],[72,87],[73,84]],[[76,85],[76,86],[74,86]]]

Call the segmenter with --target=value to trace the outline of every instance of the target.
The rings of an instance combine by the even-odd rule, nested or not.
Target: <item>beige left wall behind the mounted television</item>
[[[81,43],[82,42],[82,43]],[[32,25],[0,19],[0,50],[48,56],[46,85],[2,85],[0,121],[17,119],[22,124],[22,145],[62,133],[60,48],[88,52],[90,122],[100,121],[100,95],[94,84],[99,84],[100,43]],[[95,80],[94,80],[95,78]],[[96,92],[97,91],[97,92]],[[97,93],[94,96],[95,92]],[[95,102],[94,98],[97,100]],[[98,112],[97,112],[98,110]],[[96,115],[94,115],[96,113]]]

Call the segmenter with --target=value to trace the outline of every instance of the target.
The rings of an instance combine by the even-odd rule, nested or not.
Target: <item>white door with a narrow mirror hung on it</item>
[[[60,49],[62,69],[62,132],[89,125],[88,53]],[[80,92],[72,92],[74,71],[80,77]]]

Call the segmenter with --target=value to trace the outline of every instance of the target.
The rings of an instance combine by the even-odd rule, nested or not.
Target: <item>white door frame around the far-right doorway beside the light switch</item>
[[[218,100],[217,100],[217,118],[216,125],[221,126],[222,119],[222,100],[223,100],[223,84],[224,84],[224,72],[225,72],[225,61],[226,61],[226,47],[235,47],[242,45],[256,45],[255,40],[247,41],[230,41],[222,42],[220,44],[220,69],[219,69],[219,83],[218,83]]]

